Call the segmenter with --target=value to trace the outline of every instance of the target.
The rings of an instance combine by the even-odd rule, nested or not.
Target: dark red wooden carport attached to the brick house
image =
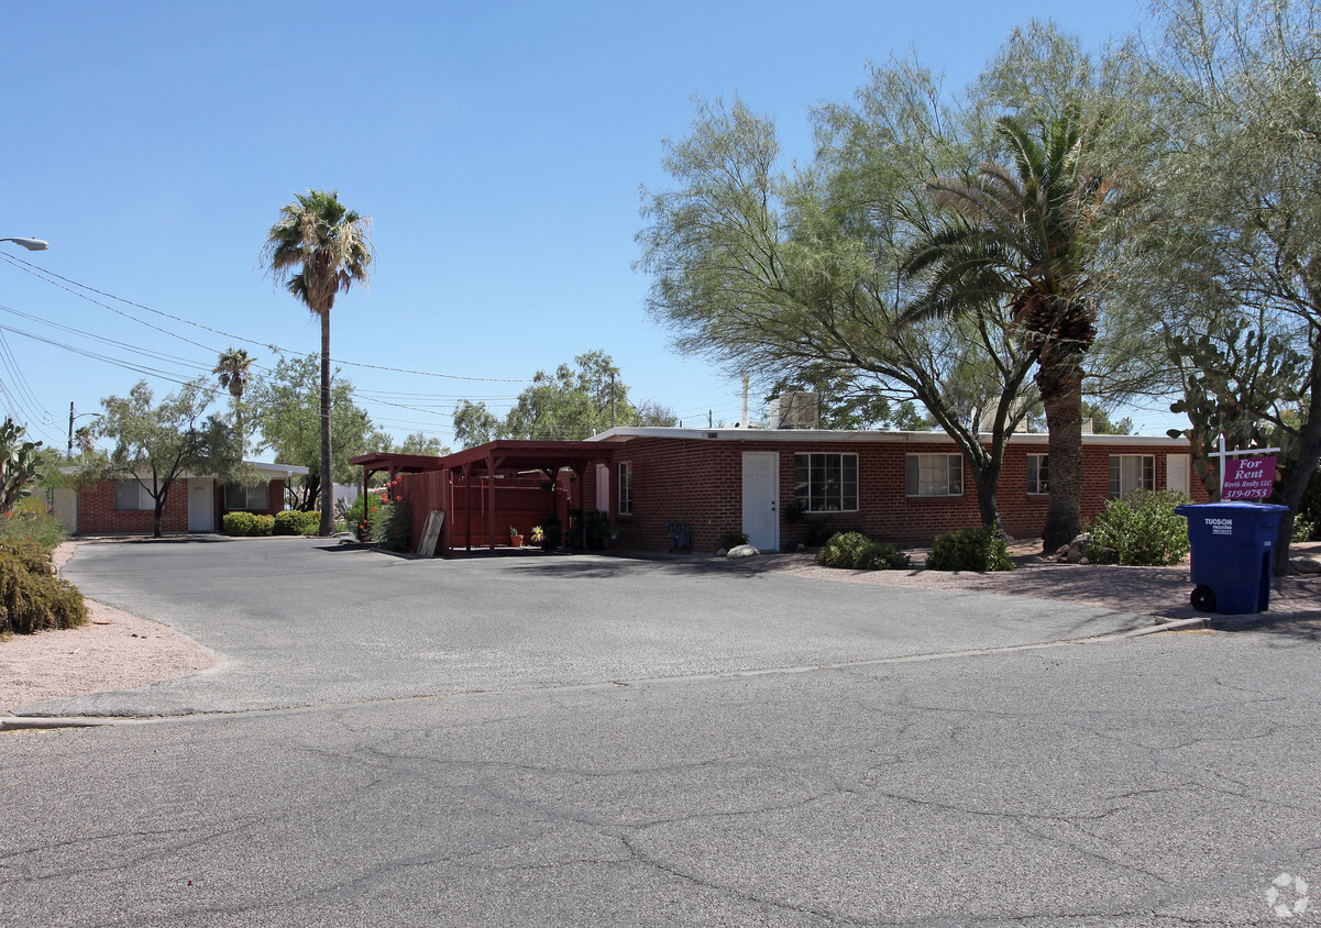
[[[400,486],[413,511],[415,549],[427,515],[433,510],[443,511],[445,521],[437,548],[443,554],[452,554],[460,547],[473,550],[474,525],[485,529],[481,532],[485,547],[494,552],[499,537],[497,525],[518,524],[522,528],[520,521],[540,521],[550,515],[567,524],[569,508],[587,508],[583,500],[588,499],[588,490],[594,490],[596,466],[609,467],[613,459],[614,447],[606,442],[509,440],[486,442],[443,458],[373,453],[353,458],[350,463],[362,466],[363,486],[371,474],[379,471],[388,473],[391,481],[402,478]],[[514,496],[507,492],[511,490],[550,492],[544,494],[544,503],[531,507],[502,506],[502,500]],[[522,496],[524,500],[528,498],[527,494]],[[460,521],[462,525],[456,537]],[[478,547],[480,543],[478,536]]]

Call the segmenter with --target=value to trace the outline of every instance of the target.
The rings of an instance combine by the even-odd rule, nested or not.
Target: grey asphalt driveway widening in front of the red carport
[[[819,667],[1112,634],[1149,618],[877,590],[703,558],[403,560],[318,539],[81,545],[98,602],[221,656],[206,673],[20,714],[180,715]]]

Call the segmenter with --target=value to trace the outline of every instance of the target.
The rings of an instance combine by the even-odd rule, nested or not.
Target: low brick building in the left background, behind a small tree
[[[161,532],[219,531],[226,512],[273,515],[284,508],[284,486],[308,473],[295,465],[248,461],[256,481],[225,484],[211,477],[181,477],[165,495]],[[148,478],[149,479],[149,478]],[[155,502],[137,481],[99,481],[81,491],[57,490],[55,515],[74,535],[151,535]]]

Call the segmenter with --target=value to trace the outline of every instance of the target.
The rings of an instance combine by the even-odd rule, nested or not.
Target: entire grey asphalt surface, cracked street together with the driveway
[[[316,543],[255,560],[260,545],[243,548],[223,568],[250,582],[213,578],[222,562],[190,566],[182,547],[85,558],[78,580],[148,615],[188,589],[198,601],[229,589],[176,618],[232,624],[248,643],[231,664],[281,642],[320,655],[268,673],[310,677],[351,653],[321,639],[355,607],[395,614],[355,639],[371,667],[396,631],[448,630],[446,649],[470,657],[362,692],[453,692],[354,702],[341,688],[366,684],[341,675],[321,705],[0,735],[0,924],[1318,921],[1321,648],[1308,626],[971,652],[964,634],[991,646],[1033,638],[1033,623],[1045,639],[1124,619],[683,565],[410,574],[417,564]],[[349,566],[314,569],[329,558]],[[374,595],[341,602],[326,635],[293,624],[292,609],[263,631],[251,593],[269,597],[263,564],[291,597]],[[449,603],[429,623],[391,609],[396,590],[419,602],[421,585],[403,580],[417,576]],[[542,609],[540,635],[523,618],[535,590],[560,603]],[[501,609],[465,622],[469,601]],[[618,627],[575,624],[588,601],[616,602]],[[676,630],[642,634],[643,618]],[[417,653],[445,635],[428,632]],[[709,653],[687,652],[699,646]],[[635,675],[585,679],[618,667]],[[457,689],[482,675],[506,685]],[[291,686],[273,701],[316,692]]]

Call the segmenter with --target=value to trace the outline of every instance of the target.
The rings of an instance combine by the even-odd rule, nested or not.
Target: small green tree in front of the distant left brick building
[[[114,450],[87,462],[83,479],[136,481],[155,503],[152,535],[159,539],[165,495],[180,477],[232,481],[246,475],[232,430],[219,416],[206,413],[214,401],[215,392],[202,380],[184,384],[160,405],[145,380],[127,397],[107,396],[95,433],[112,441]]]

